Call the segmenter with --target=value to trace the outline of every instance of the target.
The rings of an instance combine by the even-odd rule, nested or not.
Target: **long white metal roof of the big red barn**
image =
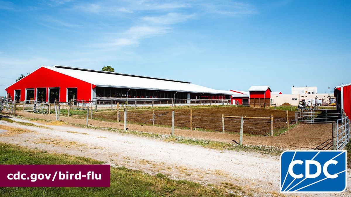
[[[206,88],[196,84],[191,84],[189,82],[181,82],[176,80],[165,80],[127,74],[112,74],[109,72],[101,72],[100,70],[76,70],[48,66],[43,67],[100,87],[153,89],[227,95],[232,94],[230,91]]]

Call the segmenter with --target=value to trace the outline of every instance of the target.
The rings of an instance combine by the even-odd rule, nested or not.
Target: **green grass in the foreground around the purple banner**
[[[90,158],[52,154],[0,143],[0,164],[102,164]],[[238,196],[241,188],[227,189],[184,180],[171,180],[125,167],[110,168],[110,187],[1,187],[1,196]]]

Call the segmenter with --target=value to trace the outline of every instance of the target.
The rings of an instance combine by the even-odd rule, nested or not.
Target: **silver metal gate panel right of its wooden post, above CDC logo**
[[[340,118],[336,121],[337,150],[342,150],[349,142],[349,117]]]

